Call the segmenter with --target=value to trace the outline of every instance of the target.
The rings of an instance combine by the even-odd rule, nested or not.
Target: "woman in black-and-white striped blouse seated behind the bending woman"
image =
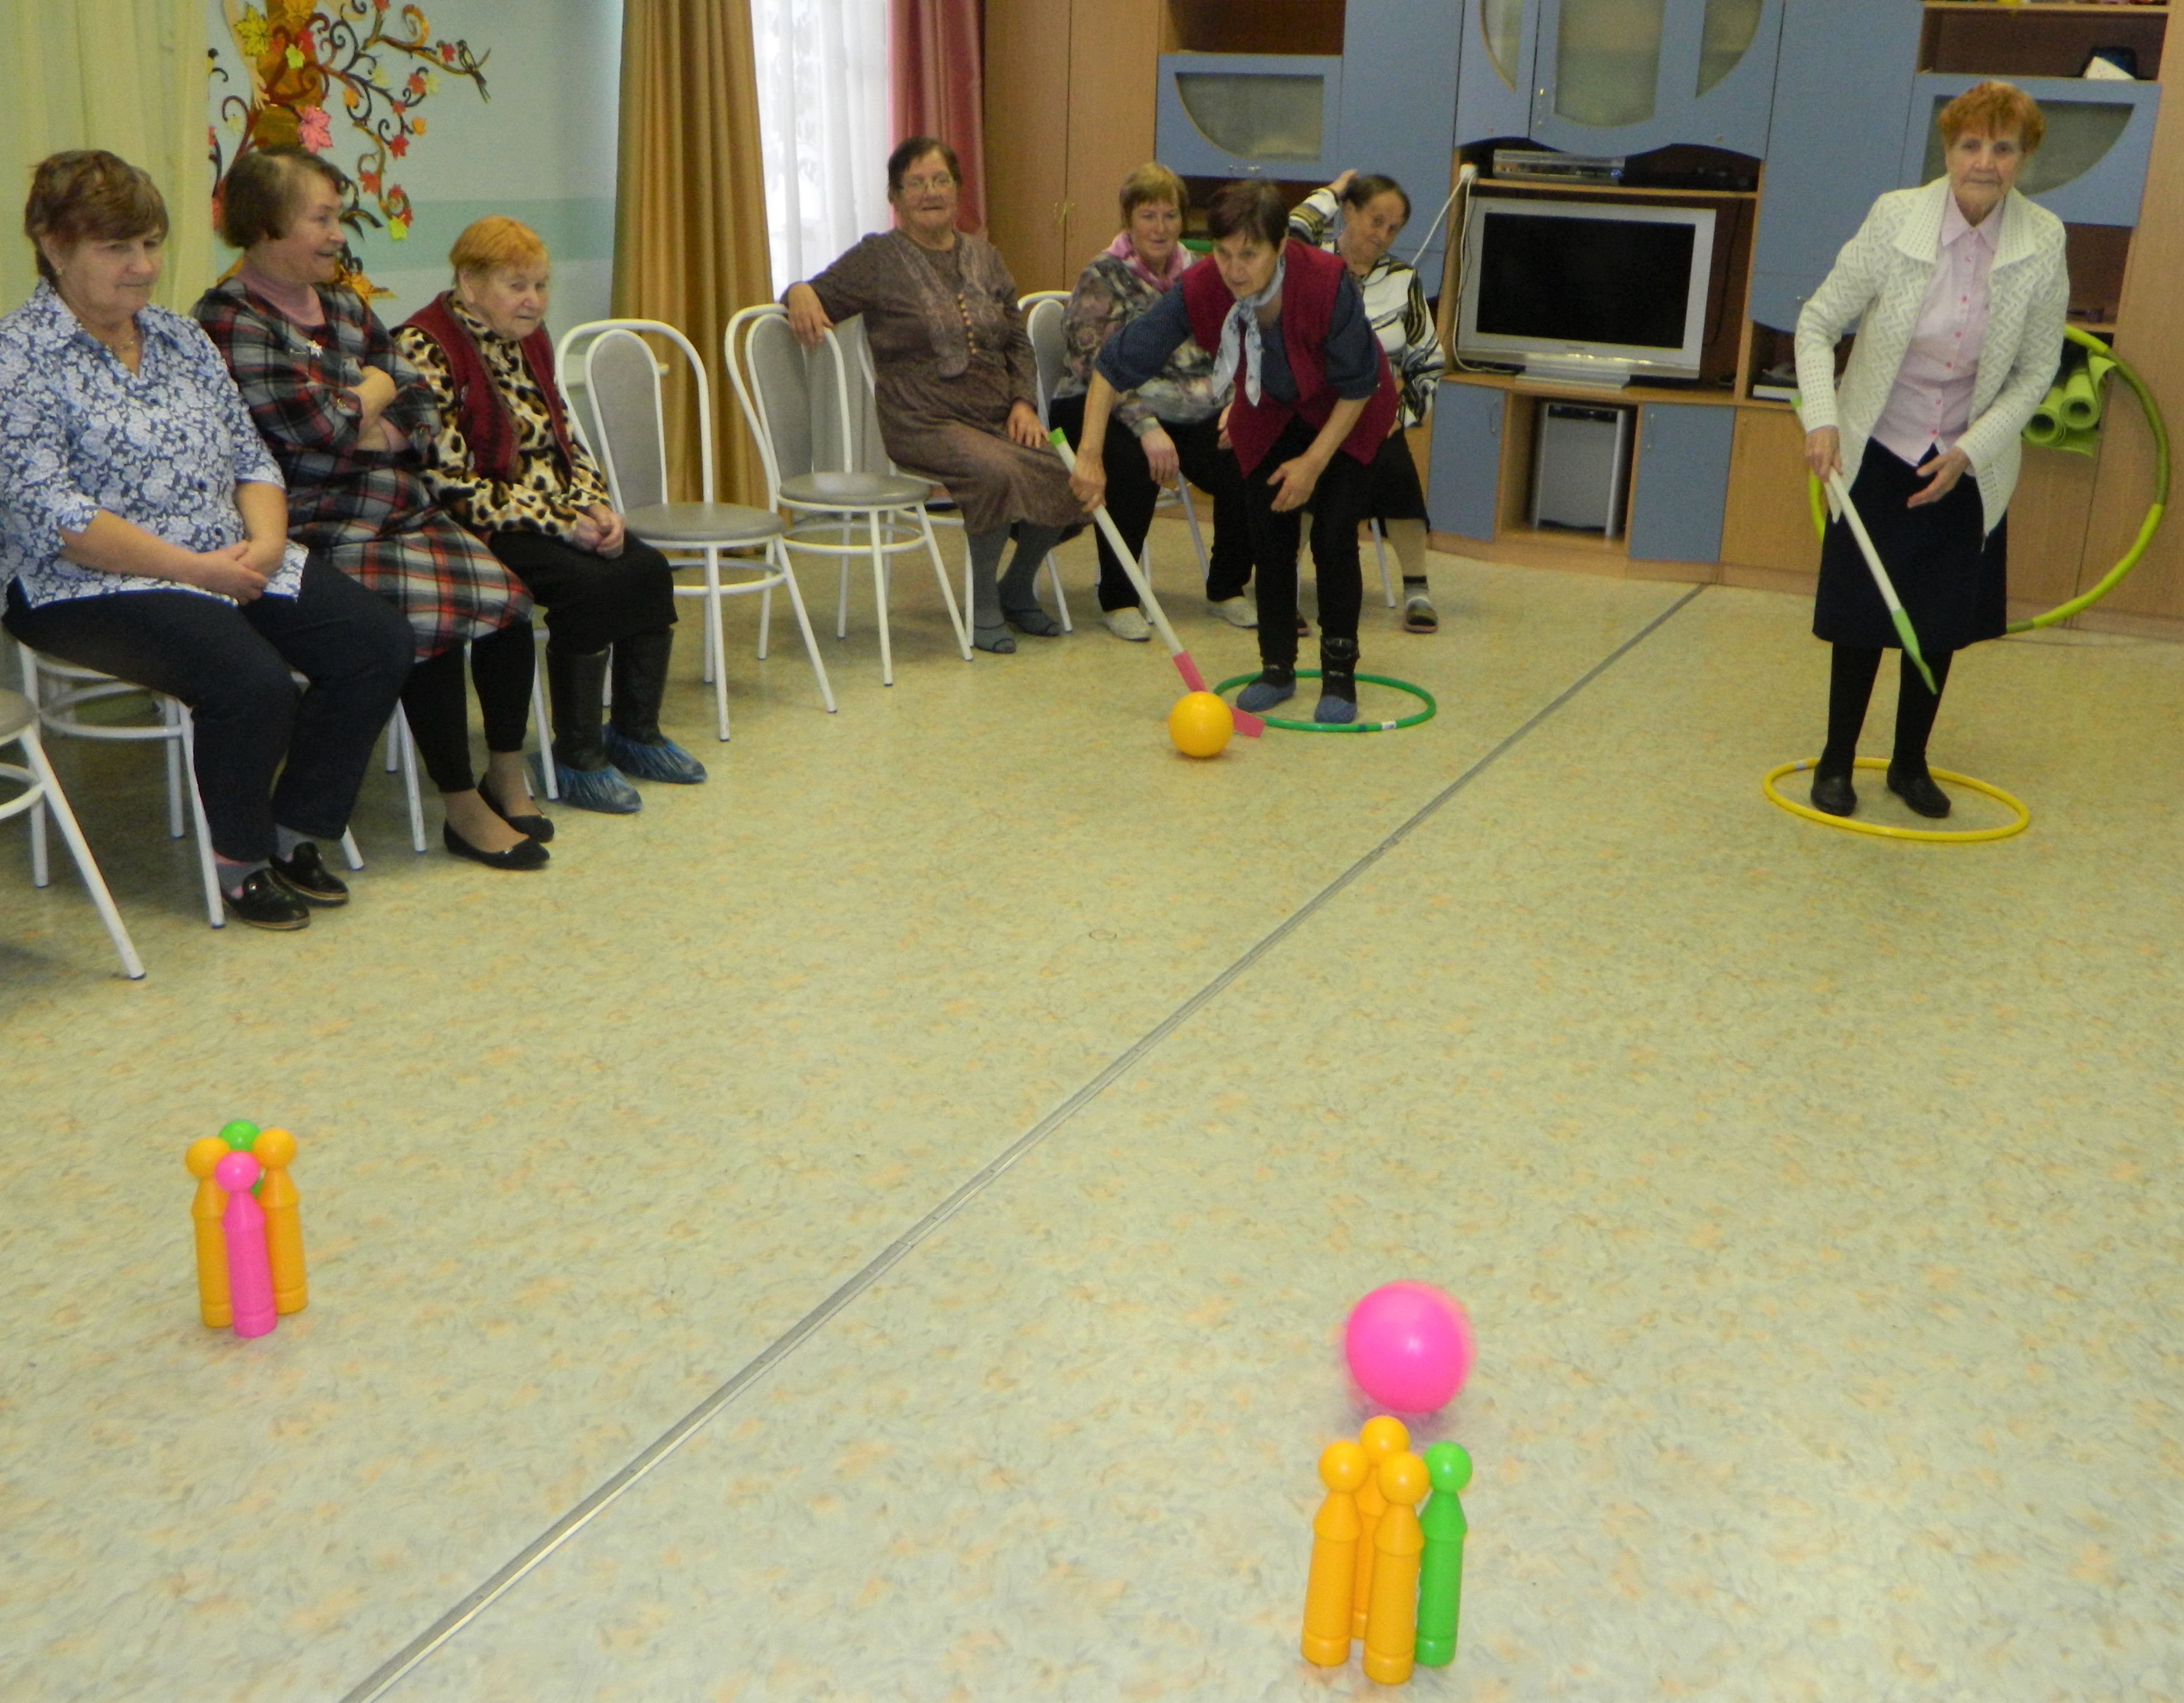
[[[1372,463],[1376,517],[1402,563],[1402,631],[1431,633],[1441,622],[1426,592],[1426,493],[1404,428],[1422,426],[1433,413],[1433,386],[1446,365],[1441,338],[1426,312],[1426,290],[1417,273],[1389,253],[1411,223],[1411,196],[1393,177],[1343,172],[1324,190],[1313,190],[1289,214],[1293,236],[1341,255],[1365,295],[1365,317],[1387,352],[1402,395],[1396,430]]]

